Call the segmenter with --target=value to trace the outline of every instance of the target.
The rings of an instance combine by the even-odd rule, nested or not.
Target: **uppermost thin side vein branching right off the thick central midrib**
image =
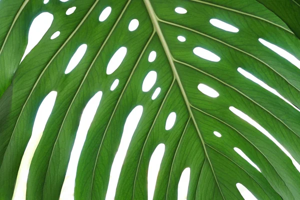
[[[279,72],[277,72],[275,69],[273,69],[269,64],[267,64],[266,62],[262,61],[262,60],[259,59],[258,57],[252,55],[251,53],[248,53],[248,52],[246,52],[246,51],[243,51],[243,50],[241,50],[241,49],[239,49],[239,48],[237,48],[237,47],[235,47],[235,46],[232,46],[232,45],[230,45],[230,44],[228,44],[228,43],[223,42],[222,40],[219,40],[219,39],[217,39],[217,38],[215,38],[215,37],[212,37],[212,36],[210,36],[210,35],[204,34],[204,33],[202,33],[202,32],[199,32],[199,31],[197,31],[197,30],[194,30],[194,29],[192,29],[192,28],[189,28],[189,27],[186,27],[186,26],[183,26],[183,25],[179,25],[179,24],[176,24],[176,23],[173,23],[173,22],[165,21],[165,20],[162,20],[162,19],[159,19],[159,18],[157,18],[157,20],[160,21],[160,22],[166,23],[166,24],[174,25],[174,26],[177,26],[177,27],[184,28],[184,29],[186,29],[186,30],[195,32],[195,33],[197,33],[197,34],[203,35],[203,36],[205,36],[205,37],[208,37],[208,38],[210,38],[210,39],[213,39],[213,40],[215,40],[215,41],[218,41],[218,42],[220,42],[220,43],[223,43],[223,44],[225,44],[225,45],[228,46],[228,47],[231,47],[231,48],[233,48],[233,49],[235,49],[235,50],[238,50],[238,51],[240,51],[240,52],[242,52],[242,53],[244,53],[244,54],[246,54],[246,55],[248,55],[248,56],[250,56],[250,57],[253,57],[253,58],[256,59],[257,61],[261,62],[262,64],[264,64],[265,66],[267,66],[268,68],[270,68],[271,70],[273,70],[273,71],[274,71],[275,73],[277,73],[281,78],[283,78],[286,82],[288,82],[288,84],[290,84],[292,87],[294,87],[296,90],[298,90],[298,91],[300,92],[300,89],[298,89],[296,86],[294,86],[292,83],[290,83],[284,76],[282,76]]]

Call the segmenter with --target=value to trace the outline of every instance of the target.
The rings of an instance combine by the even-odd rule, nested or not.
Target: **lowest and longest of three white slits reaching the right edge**
[[[295,168],[300,172],[300,165],[299,163],[291,156],[291,154],[261,125],[259,125],[256,121],[254,121],[251,117],[249,117],[247,114],[243,113],[239,109],[236,109],[233,106],[229,107],[229,110],[233,112],[235,115],[240,117],[241,119],[245,120],[252,126],[254,126],[257,130],[259,130],[262,134],[267,136],[272,142],[274,142],[292,161]]]

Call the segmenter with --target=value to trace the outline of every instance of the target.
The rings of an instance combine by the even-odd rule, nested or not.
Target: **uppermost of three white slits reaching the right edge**
[[[266,46],[269,49],[271,49],[272,51],[274,51],[275,53],[277,53],[278,55],[280,55],[281,57],[287,59],[290,63],[292,63],[293,65],[295,65],[296,67],[298,67],[300,69],[300,60],[298,60],[291,53],[287,52],[283,48],[280,48],[279,46],[272,44],[262,38],[259,38],[258,41],[260,43],[262,43],[264,46]]]

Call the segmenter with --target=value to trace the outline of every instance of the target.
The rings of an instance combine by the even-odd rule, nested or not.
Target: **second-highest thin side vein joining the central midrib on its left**
[[[165,100],[166,100],[166,98],[167,98],[169,92],[171,91],[171,88],[172,88],[174,82],[175,82],[175,77],[173,77],[172,83],[171,83],[171,85],[169,86],[169,88],[168,88],[168,90],[167,90],[167,92],[166,92],[166,94],[165,94],[165,96],[164,96],[164,98],[163,98],[163,100],[162,100],[162,102],[161,102],[161,104],[160,104],[160,107],[159,107],[159,109],[158,109],[158,111],[157,111],[157,113],[156,113],[156,115],[155,115],[155,118],[154,118],[154,120],[153,120],[153,122],[152,122],[152,125],[151,125],[151,127],[150,127],[150,129],[149,129],[149,131],[148,131],[148,133],[147,133],[146,139],[145,139],[145,141],[143,142],[143,146],[142,146],[142,149],[141,149],[141,151],[140,151],[140,155],[139,155],[139,159],[138,159],[138,163],[137,163],[137,167],[136,167],[136,172],[135,172],[135,176],[134,176],[134,181],[133,181],[132,200],[133,200],[133,198],[134,198],[135,182],[136,182],[136,177],[137,177],[137,173],[138,173],[138,169],[139,169],[139,164],[140,164],[140,160],[141,160],[141,157],[142,157],[142,153],[143,153],[144,147],[145,147],[145,145],[146,145],[146,142],[147,142],[147,140],[148,140],[148,137],[149,137],[149,135],[150,135],[150,132],[151,132],[153,126],[154,126],[154,123],[156,122],[156,119],[158,118],[158,115],[159,115],[159,113],[160,113],[160,111],[161,111],[161,109],[162,109],[162,106],[164,105],[164,102],[165,102]]]

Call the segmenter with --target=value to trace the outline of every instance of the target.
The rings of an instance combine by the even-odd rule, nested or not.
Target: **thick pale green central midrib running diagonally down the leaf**
[[[174,65],[174,62],[173,62],[173,57],[172,57],[172,55],[171,55],[171,53],[170,53],[170,50],[169,50],[169,48],[168,48],[168,46],[167,46],[167,43],[166,43],[166,41],[165,41],[165,39],[164,39],[164,36],[163,36],[162,31],[161,31],[161,29],[160,29],[160,26],[159,26],[159,24],[158,24],[158,18],[157,18],[156,14],[155,14],[155,12],[154,12],[154,10],[153,10],[153,8],[152,8],[152,5],[151,5],[150,1],[149,1],[149,0],[143,0],[143,1],[144,1],[145,6],[146,6],[146,8],[147,8],[147,10],[148,10],[148,13],[149,13],[150,18],[151,18],[151,21],[152,21],[152,23],[153,23],[153,25],[154,25],[154,28],[156,29],[156,32],[157,32],[158,37],[159,37],[159,39],[160,39],[160,42],[161,42],[161,44],[162,44],[162,46],[163,46],[163,49],[164,49],[164,51],[165,51],[165,54],[166,54],[166,56],[167,56],[167,58],[168,58],[168,61],[169,61],[169,63],[170,63],[170,66],[171,66],[171,69],[172,69],[172,71],[173,71],[173,73],[174,73],[174,76],[175,76],[175,78],[176,78],[176,80],[177,80],[177,83],[178,83],[179,88],[180,88],[180,90],[181,90],[181,93],[182,93],[182,96],[183,96],[183,98],[184,98],[184,101],[185,101],[186,107],[187,107],[187,109],[188,109],[188,112],[189,112],[189,114],[190,114],[190,117],[192,118],[193,123],[194,123],[194,125],[195,125],[195,128],[196,128],[196,130],[197,130],[197,133],[198,133],[198,135],[199,135],[199,137],[200,137],[200,140],[201,140],[201,143],[202,143],[202,145],[203,145],[203,149],[204,149],[205,155],[206,155],[207,160],[208,160],[208,162],[209,162],[209,164],[210,164],[210,167],[211,167],[213,176],[214,176],[214,178],[215,178],[215,181],[216,181],[216,183],[217,183],[218,189],[220,190],[220,193],[221,193],[221,195],[222,195],[222,198],[225,200],[225,198],[224,198],[224,196],[223,196],[223,193],[222,193],[222,191],[221,191],[221,189],[220,189],[220,186],[219,186],[219,184],[218,184],[217,178],[216,178],[216,176],[215,176],[215,173],[214,173],[212,164],[211,164],[210,159],[209,159],[209,157],[208,157],[208,153],[207,153],[206,148],[205,148],[204,140],[203,140],[203,138],[202,138],[202,135],[200,134],[200,131],[199,131],[199,129],[198,129],[198,126],[197,126],[196,121],[195,121],[195,119],[194,119],[194,116],[193,116],[193,114],[192,114],[192,111],[191,111],[191,108],[190,108],[190,103],[189,103],[189,101],[188,101],[188,99],[187,99],[187,96],[186,96],[186,94],[185,94],[185,91],[184,91],[184,88],[183,88],[183,86],[182,86],[181,80],[180,80],[180,78],[179,78],[178,72],[177,72],[177,70],[176,70],[176,68],[175,68],[175,65]]]

